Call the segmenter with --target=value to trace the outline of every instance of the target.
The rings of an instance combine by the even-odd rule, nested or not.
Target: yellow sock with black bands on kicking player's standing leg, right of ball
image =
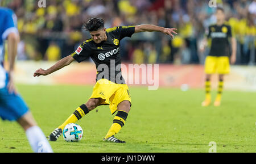
[[[105,139],[117,134],[121,130],[123,125],[125,125],[125,120],[127,116],[128,113],[124,111],[117,112],[117,115],[114,117],[113,124],[111,125],[108,133],[106,134]]]

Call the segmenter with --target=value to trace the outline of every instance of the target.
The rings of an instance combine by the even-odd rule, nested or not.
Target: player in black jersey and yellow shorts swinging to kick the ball
[[[111,113],[114,114],[117,112],[117,114],[114,117],[112,126],[104,137],[104,141],[125,143],[125,141],[118,140],[114,137],[123,125],[125,125],[131,106],[129,89],[121,74],[119,43],[124,37],[131,37],[133,33],[142,31],[159,31],[174,37],[172,33],[176,34],[174,31],[176,29],[163,28],[150,24],[119,26],[106,29],[104,27],[104,20],[101,18],[89,19],[85,27],[90,32],[91,39],[84,41],[75,52],[59,60],[51,68],[47,70],[38,69],[34,73],[34,77],[48,75],[71,64],[74,60],[81,62],[88,57],[91,57],[96,64],[96,84],[93,87],[93,92],[89,100],[79,106],[63,124],[57,127],[49,135],[49,140],[56,141],[65,125],[76,123],[77,120],[81,119],[81,117],[85,116],[97,106],[109,104]]]

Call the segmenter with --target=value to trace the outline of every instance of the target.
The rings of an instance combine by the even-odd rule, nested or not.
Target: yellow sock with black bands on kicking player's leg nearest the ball
[[[58,128],[61,128],[63,130],[67,124],[70,123],[76,123],[79,119],[81,119],[84,115],[86,115],[89,112],[88,108],[85,106],[85,104],[82,104],[80,107],[78,107],[75,112],[72,113],[71,116],[68,117],[67,120],[64,121],[63,124],[61,124]]]

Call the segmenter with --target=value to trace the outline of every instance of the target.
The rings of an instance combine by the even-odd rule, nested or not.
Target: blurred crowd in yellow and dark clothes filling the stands
[[[224,8],[237,39],[236,64],[255,64],[256,1],[215,1]],[[216,22],[216,8],[209,7],[207,0],[45,0],[46,7],[39,7],[38,2],[2,1],[18,17],[18,60],[56,61],[68,56],[90,38],[84,22],[98,16],[105,20],[106,28],[155,24],[178,29],[174,39],[160,32],[123,39],[122,61],[203,64],[208,52],[199,52],[199,45],[205,29]]]

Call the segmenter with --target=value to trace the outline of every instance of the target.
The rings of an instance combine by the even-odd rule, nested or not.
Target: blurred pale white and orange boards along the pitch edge
[[[74,63],[47,77],[33,77],[38,68],[49,68],[54,62],[19,61],[15,69],[15,80],[18,83],[30,85],[94,85],[96,83],[96,69],[91,62],[82,64]],[[129,64],[124,64],[128,68]],[[145,71],[148,72],[148,69]],[[154,70],[153,70],[154,72]],[[189,88],[198,89],[204,87],[204,66],[203,65],[171,65],[159,64],[158,84],[159,87],[176,87],[181,90]],[[129,86],[152,86],[146,81],[142,83],[143,71],[129,69],[122,70],[123,78]],[[130,81],[130,76],[133,80]],[[135,77],[139,78],[139,84],[135,83]],[[154,75],[152,76],[154,80]],[[213,76],[213,87],[217,88],[217,75]],[[256,91],[256,67],[255,66],[232,66],[230,74],[225,78],[225,89]]]

